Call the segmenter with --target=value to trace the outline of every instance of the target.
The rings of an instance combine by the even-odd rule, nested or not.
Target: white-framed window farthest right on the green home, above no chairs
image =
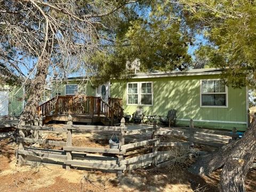
[[[202,79],[200,82],[201,107],[228,107],[228,89],[222,79]]]

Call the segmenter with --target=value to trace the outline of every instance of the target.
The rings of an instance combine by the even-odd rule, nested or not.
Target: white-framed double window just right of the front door
[[[153,106],[153,82],[127,83],[127,105]]]

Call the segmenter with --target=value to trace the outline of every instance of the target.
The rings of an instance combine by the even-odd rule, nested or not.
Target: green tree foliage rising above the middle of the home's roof
[[[180,11],[180,6],[166,1],[141,1],[125,6],[114,24],[106,20],[108,25],[115,25],[115,31],[101,31],[102,38],[111,41],[103,41],[102,52],[95,52],[90,61],[97,78],[126,77],[126,62],[137,59],[141,71],[188,67],[191,38]]]

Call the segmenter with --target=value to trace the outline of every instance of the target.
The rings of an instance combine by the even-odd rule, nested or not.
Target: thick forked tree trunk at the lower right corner
[[[209,175],[223,166],[220,179],[222,192],[245,191],[244,181],[256,157],[256,121],[253,118],[242,139],[222,146],[217,152],[203,156],[189,168],[199,175]]]

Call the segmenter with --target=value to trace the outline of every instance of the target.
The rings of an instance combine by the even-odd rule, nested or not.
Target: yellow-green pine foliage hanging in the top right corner
[[[190,27],[207,31],[202,35],[215,47],[211,65],[225,69],[229,84],[255,87],[255,3],[245,0],[181,0],[180,3],[187,12]]]

